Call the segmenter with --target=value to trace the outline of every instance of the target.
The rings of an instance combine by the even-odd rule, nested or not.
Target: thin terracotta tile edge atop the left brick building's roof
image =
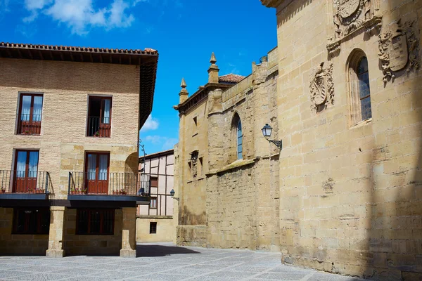
[[[73,52],[84,52],[84,53],[121,53],[121,54],[156,54],[157,50],[153,48],[146,48],[145,50],[127,50],[118,48],[91,48],[91,47],[77,47],[77,46],[56,46],[56,45],[35,45],[35,44],[19,44],[19,43],[8,43],[0,42],[0,48],[25,48],[35,50],[51,50],[51,51],[73,51]]]

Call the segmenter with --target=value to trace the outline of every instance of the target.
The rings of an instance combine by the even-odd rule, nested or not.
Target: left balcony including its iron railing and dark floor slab
[[[46,171],[0,170],[0,200],[46,200],[49,183]]]

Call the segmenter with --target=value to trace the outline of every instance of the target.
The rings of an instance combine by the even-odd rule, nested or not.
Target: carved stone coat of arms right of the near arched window
[[[395,79],[395,72],[407,67],[407,72],[418,70],[419,42],[416,38],[415,20],[409,20],[402,24],[398,20],[392,25],[385,27],[379,35],[379,53],[381,67],[383,68],[384,83]]]

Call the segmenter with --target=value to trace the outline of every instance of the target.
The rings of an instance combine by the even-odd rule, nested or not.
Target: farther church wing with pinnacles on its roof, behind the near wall
[[[277,126],[277,49],[252,74],[209,79],[188,98],[179,93],[176,185],[180,195],[177,242],[207,247],[279,249],[279,150],[262,136]]]

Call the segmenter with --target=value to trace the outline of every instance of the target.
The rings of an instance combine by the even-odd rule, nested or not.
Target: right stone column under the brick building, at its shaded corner
[[[122,258],[136,258],[136,207],[122,208]]]

